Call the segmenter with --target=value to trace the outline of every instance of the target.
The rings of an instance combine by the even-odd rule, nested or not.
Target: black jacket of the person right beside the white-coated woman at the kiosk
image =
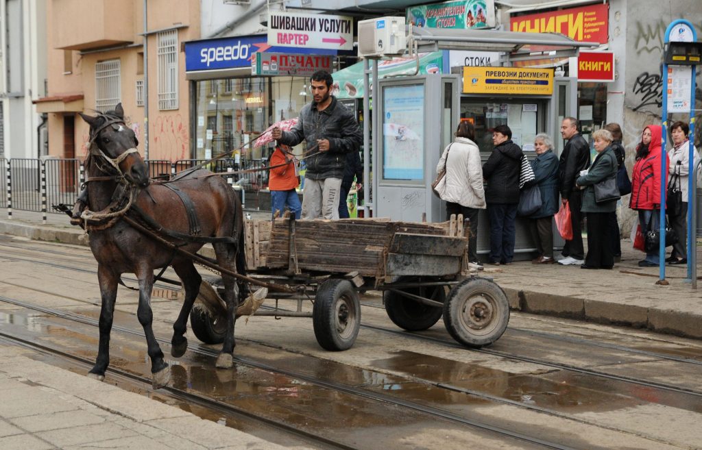
[[[511,139],[498,144],[483,164],[486,203],[519,203],[522,149]]]

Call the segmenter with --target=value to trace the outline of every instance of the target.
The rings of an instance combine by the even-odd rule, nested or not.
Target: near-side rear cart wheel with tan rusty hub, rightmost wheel
[[[510,321],[507,296],[495,282],[468,278],[454,286],[444,304],[444,324],[453,339],[469,347],[497,341]]]

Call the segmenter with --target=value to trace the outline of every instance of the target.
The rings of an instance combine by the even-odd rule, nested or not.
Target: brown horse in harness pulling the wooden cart
[[[147,165],[136,151],[136,136],[124,123],[121,104],[105,114],[95,117],[81,114],[81,117],[90,124],[91,144],[86,159],[88,210],[83,217],[90,232],[91,250],[98,261],[98,281],[102,296],[98,357],[88,375],[99,380],[105,379],[105,370],[110,363],[110,329],[117,283],[122,273],[134,273],[139,280],[137,317],[146,335],[153,385],[154,388],[166,386],[170,372],[152,330],[150,302],[154,269],[172,266],[185,288],[185,301],[178,320],[173,324],[173,357],[182,356],[187,348],[187,318],[199,292],[201,276],[190,259],[168,250],[129,226],[121,219],[121,214],[128,214],[142,222],[147,217],[164,229],[183,235],[198,235],[201,238],[199,242],[197,239],[193,242],[190,239],[168,238],[171,242],[182,244],[181,248],[188,252],[197,252],[207,238],[220,238],[213,239],[216,241],[213,242],[213,247],[217,264],[229,271],[237,271],[238,266],[241,273],[244,270],[241,203],[221,177],[207,176],[212,175],[208,170],[194,170],[178,177],[177,181],[171,182],[175,189],[169,189],[166,184],[151,184]],[[185,198],[183,193],[186,194]],[[187,201],[187,198],[192,201]],[[194,209],[194,214],[187,213],[186,204],[190,205],[191,210]],[[105,219],[96,221],[100,217]],[[236,345],[234,311],[238,304],[239,289],[231,275],[223,273],[223,282],[227,327],[216,366],[230,368]]]

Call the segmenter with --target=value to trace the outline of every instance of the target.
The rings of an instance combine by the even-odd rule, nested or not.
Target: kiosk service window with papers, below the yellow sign
[[[481,152],[493,149],[492,128],[508,125],[512,141],[524,149],[534,151],[534,137],[545,131],[546,102],[544,100],[503,100],[492,102],[477,98],[461,101],[461,119],[475,125],[475,143]]]

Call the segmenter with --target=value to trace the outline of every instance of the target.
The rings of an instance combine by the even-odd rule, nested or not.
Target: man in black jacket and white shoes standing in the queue
[[[561,136],[567,139],[558,164],[559,189],[561,201],[566,201],[571,211],[573,239],[567,240],[563,246],[564,258],[558,261],[564,265],[585,264],[585,249],[583,248],[583,193],[575,185],[581,170],[590,167],[590,145],[578,131],[578,119],[566,117],[561,123]]]

